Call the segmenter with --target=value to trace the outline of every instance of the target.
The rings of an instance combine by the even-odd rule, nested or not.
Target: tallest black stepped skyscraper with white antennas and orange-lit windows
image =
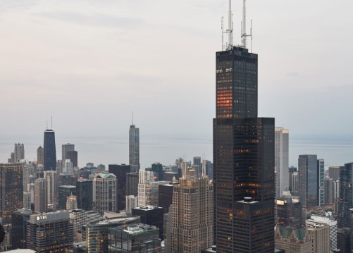
[[[216,52],[213,119],[214,229],[217,252],[274,252],[274,118],[258,118],[258,56],[242,45]],[[223,25],[222,25],[223,27]]]

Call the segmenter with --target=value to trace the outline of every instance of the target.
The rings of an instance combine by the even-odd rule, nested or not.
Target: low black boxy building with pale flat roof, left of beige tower
[[[135,207],[133,216],[140,216],[141,223],[156,226],[159,229],[159,237],[163,240],[163,208],[157,206]]]

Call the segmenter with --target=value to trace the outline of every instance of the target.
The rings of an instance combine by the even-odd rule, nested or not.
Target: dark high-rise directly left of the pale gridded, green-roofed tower
[[[76,182],[76,195],[78,197],[78,209],[89,211],[93,209],[93,181],[79,179]]]

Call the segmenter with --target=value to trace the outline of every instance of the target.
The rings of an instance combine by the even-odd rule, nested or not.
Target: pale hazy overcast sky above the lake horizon
[[[235,44],[241,7],[233,0]],[[259,116],[292,136],[352,135],[352,7],[247,1]],[[128,140],[134,111],[141,138],[212,140],[227,9],[227,0],[1,0],[1,135],[42,143],[53,115],[57,137]]]

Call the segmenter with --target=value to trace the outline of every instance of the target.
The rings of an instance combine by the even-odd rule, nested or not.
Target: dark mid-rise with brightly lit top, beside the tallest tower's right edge
[[[302,202],[285,191],[277,198],[277,225],[283,227],[303,228]]]

